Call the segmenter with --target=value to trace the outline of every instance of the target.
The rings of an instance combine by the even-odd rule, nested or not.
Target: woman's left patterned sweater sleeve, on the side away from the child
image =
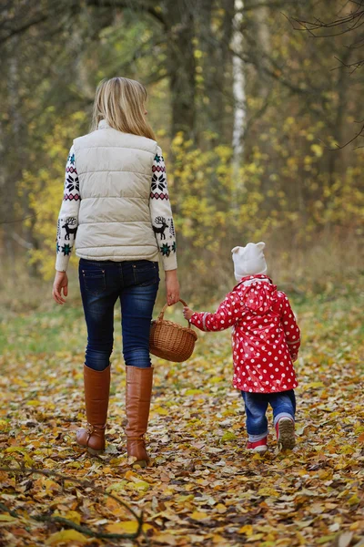
[[[81,197],[74,147],[66,162],[65,188],[56,232],[56,270],[66,272],[75,243]]]

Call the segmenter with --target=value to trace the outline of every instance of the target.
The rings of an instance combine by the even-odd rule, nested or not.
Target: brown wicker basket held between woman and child
[[[179,300],[187,305],[183,300]],[[149,335],[149,351],[151,354],[167,361],[181,363],[193,353],[197,334],[188,326],[178,325],[164,319],[168,304],[166,304],[156,321],[152,321]]]

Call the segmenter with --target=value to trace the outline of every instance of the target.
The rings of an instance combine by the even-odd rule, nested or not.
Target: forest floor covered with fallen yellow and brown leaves
[[[126,461],[120,329],[108,445],[91,457],[75,443],[85,423],[82,311],[3,318],[0,466],[17,471],[0,471],[0,545],[364,545],[364,293],[348,288],[293,304],[303,333],[297,447],[278,452],[269,414],[268,453],[248,454],[230,383],[230,333],[201,333],[187,363],[154,359],[147,470]],[[133,514],[110,494],[143,511],[134,542],[87,535],[85,527],[136,532]]]

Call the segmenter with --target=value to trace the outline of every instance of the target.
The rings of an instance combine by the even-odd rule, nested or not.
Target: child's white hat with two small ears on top
[[[246,247],[231,249],[234,274],[237,281],[246,275],[267,274],[267,263],[263,249],[266,243],[248,243]]]

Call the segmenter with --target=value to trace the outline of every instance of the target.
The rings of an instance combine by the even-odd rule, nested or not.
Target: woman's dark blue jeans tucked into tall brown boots
[[[151,366],[149,332],[159,285],[158,263],[80,259],[78,267],[87,325],[85,365],[105,370],[114,344],[114,306],[121,304],[123,355],[127,366]]]

